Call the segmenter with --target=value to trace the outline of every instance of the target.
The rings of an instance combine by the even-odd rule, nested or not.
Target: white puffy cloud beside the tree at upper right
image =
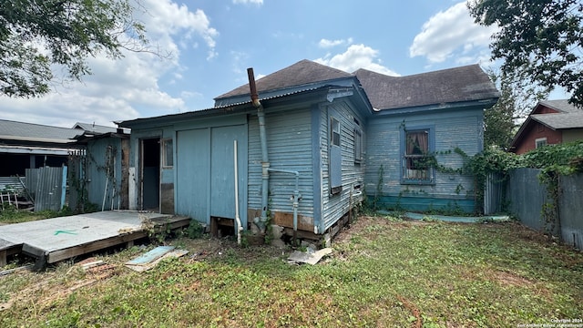
[[[469,15],[467,2],[461,2],[435,14],[424,23],[421,33],[414,37],[409,55],[425,56],[430,63],[441,63],[459,56],[458,64],[489,57],[490,36],[496,26],[479,26]]]

